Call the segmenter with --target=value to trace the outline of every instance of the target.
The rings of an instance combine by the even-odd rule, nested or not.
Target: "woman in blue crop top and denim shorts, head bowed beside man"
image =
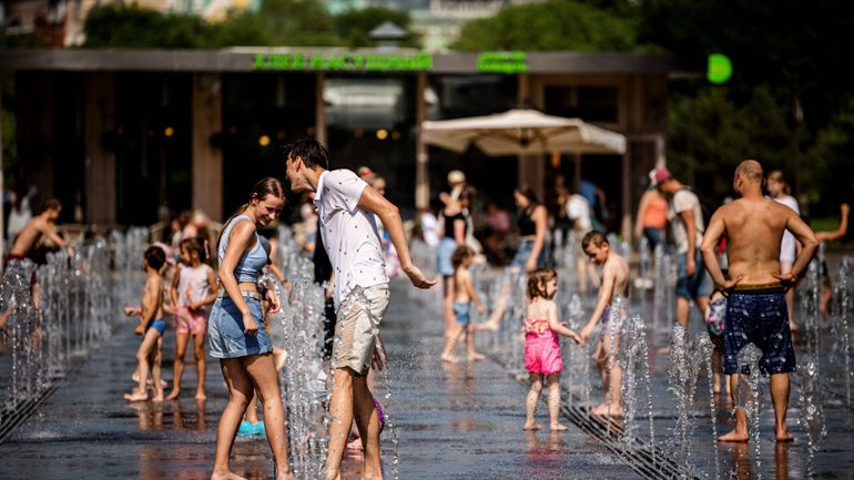
[[[216,426],[216,452],[212,480],[234,478],[228,468],[234,437],[243,412],[258,391],[264,404],[264,421],[270,448],[278,472],[277,479],[293,479],[287,459],[285,409],[273,361],[273,345],[263,326],[257,279],[267,263],[267,254],[255,233],[275,219],[284,205],[282,185],[267,177],[255,184],[250,201],[228,218],[217,241],[221,292],[209,319],[210,354],[220,359],[228,386],[228,402]],[[279,300],[267,292],[271,312]]]

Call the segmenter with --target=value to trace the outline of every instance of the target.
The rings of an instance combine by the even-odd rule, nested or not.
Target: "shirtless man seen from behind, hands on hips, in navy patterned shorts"
[[[748,343],[762,350],[761,370],[771,375],[771,400],[777,441],[791,441],[786,430],[789,372],[795,369],[795,354],[789,329],[785,292],[810,263],[819,241],[801,217],[785,205],[762,195],[762,165],[745,160],[735,168],[733,188],[741,198],[720,207],[712,216],[700,246],[705,268],[716,288],[729,294],[723,337],[724,374],[735,391],[738,355]],[[780,270],[783,232],[791,232],[803,248],[789,273]],[[721,273],[714,247],[726,235],[729,275]],[[753,372],[755,375],[755,372]],[[719,441],[748,441],[748,418],[735,409],[735,428]]]

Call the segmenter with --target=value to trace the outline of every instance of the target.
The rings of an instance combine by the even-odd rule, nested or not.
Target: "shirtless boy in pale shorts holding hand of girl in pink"
[[[602,375],[604,401],[590,410],[593,415],[622,416],[622,370],[620,369],[620,328],[626,317],[626,288],[629,285],[629,264],[611,252],[604,236],[588,232],[581,239],[581,248],[597,265],[602,265],[602,285],[590,321],[581,329],[581,339],[587,343],[601,320],[599,339],[593,359]]]

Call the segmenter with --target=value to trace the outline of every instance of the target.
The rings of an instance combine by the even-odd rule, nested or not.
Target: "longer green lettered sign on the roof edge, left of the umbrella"
[[[261,71],[343,71],[417,72],[433,70],[433,55],[416,53],[256,53],[252,70]]]

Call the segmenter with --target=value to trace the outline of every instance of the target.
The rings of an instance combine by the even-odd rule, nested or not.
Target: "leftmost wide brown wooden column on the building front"
[[[85,73],[85,222],[112,225],[116,219],[114,145],[104,149],[104,136],[115,131],[115,75]]]

